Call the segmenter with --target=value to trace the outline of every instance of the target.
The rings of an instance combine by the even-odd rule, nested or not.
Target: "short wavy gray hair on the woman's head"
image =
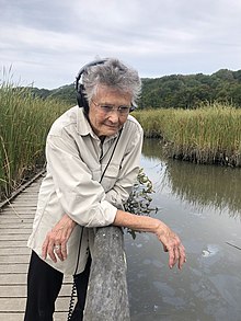
[[[103,64],[88,67],[83,72],[82,83],[89,103],[96,94],[100,84],[129,93],[133,105],[136,105],[136,100],[141,92],[141,80],[138,72],[115,58],[107,58]]]

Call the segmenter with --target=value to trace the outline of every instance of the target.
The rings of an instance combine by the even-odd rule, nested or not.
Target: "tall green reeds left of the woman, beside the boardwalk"
[[[26,88],[0,84],[0,199],[45,162],[45,139],[66,104],[33,98]]]

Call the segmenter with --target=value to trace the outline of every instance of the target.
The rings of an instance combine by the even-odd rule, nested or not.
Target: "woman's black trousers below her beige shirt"
[[[74,276],[78,301],[69,320],[81,321],[85,303],[91,257],[85,270]],[[27,300],[24,321],[53,321],[55,301],[62,285],[64,274],[53,268],[33,251],[27,274]]]

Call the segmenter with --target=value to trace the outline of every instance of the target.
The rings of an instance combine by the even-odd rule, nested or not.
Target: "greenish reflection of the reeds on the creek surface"
[[[162,179],[159,187],[169,185],[172,194],[193,206],[209,206],[220,213],[228,209],[230,216],[241,215],[240,169],[167,159],[162,145],[153,139],[145,140],[142,154],[162,163],[164,174],[160,175]]]

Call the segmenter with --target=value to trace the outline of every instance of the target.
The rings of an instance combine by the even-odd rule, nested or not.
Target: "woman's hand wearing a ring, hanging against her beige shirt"
[[[65,261],[67,259],[67,242],[71,236],[76,222],[65,215],[57,225],[47,233],[42,247],[42,257],[45,260],[47,254],[56,263],[57,257]]]

